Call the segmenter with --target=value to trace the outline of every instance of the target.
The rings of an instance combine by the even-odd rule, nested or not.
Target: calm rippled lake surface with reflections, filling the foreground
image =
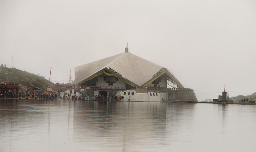
[[[1,99],[0,151],[254,151],[256,106]]]

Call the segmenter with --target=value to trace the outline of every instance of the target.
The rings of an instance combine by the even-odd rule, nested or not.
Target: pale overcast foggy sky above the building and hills
[[[1,64],[49,79],[129,52],[170,69],[199,101],[256,92],[255,0],[1,0]]]

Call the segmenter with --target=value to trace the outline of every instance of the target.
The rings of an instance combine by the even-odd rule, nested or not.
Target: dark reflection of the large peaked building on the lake
[[[167,103],[75,101],[74,105],[74,139],[88,150],[101,145],[120,151],[163,140]]]

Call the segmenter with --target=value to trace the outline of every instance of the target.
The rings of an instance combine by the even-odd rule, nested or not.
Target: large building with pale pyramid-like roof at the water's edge
[[[131,101],[197,101],[172,71],[125,52],[75,67],[75,87],[93,90],[95,95],[124,96]],[[87,92],[88,92],[87,90]],[[90,94],[90,93],[88,93]]]

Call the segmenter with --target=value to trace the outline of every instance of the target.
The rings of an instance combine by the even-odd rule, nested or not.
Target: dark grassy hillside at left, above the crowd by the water
[[[43,90],[47,90],[49,80],[36,74],[28,73],[27,71],[21,71],[16,68],[0,67],[0,81],[1,83],[8,84],[21,84],[26,87],[38,87]],[[57,86],[50,82],[50,88],[57,90]],[[23,90],[24,91],[24,90]]]

